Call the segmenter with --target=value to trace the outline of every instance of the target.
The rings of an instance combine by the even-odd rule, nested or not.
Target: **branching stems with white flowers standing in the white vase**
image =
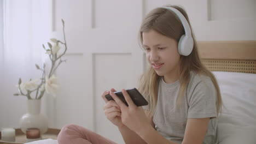
[[[38,64],[36,64],[36,68],[40,71],[42,71],[42,77],[39,80],[30,80],[28,82],[22,82],[21,79],[19,79],[18,82],[18,90],[19,93],[15,93],[15,96],[23,95],[26,96],[28,99],[41,99],[44,95],[44,92],[53,95],[55,97],[56,91],[59,88],[59,83],[57,82],[57,77],[54,75],[56,69],[60,66],[62,62],[61,57],[65,55],[67,51],[67,43],[66,43],[66,36],[65,36],[65,23],[62,20],[62,26],[63,26],[63,38],[64,43],[60,40],[57,40],[55,38],[50,39],[54,45],[52,45],[50,42],[48,42],[48,49],[45,48],[44,44],[43,49],[45,50],[45,53],[48,54],[49,59],[51,61],[51,67],[50,72],[48,73],[48,76],[46,76],[45,67],[46,64],[43,64],[43,68],[40,68]],[[61,53],[61,55],[57,55],[59,50],[61,49],[60,45],[64,45],[65,49]],[[58,57],[57,57],[58,56]],[[56,65],[57,64],[57,65]],[[31,94],[36,91],[36,94],[34,98],[31,97]],[[26,94],[25,94],[26,93]]]

